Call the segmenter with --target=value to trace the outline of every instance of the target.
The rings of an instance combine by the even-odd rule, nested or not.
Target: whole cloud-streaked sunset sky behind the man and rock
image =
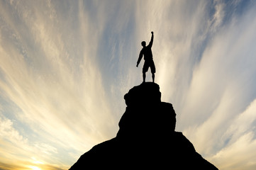
[[[0,1],[0,169],[69,169],[110,140],[150,41],[176,131],[256,169],[256,1]],[[151,80],[150,72],[146,81]]]

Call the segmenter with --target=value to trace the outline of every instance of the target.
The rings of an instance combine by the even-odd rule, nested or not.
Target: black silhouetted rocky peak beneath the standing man
[[[94,146],[70,170],[217,169],[174,131],[176,113],[171,103],[161,102],[159,89],[149,82],[130,89],[116,137]]]

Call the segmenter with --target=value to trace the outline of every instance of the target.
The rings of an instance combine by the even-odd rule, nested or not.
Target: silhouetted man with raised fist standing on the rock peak
[[[150,40],[150,43],[148,44],[148,46],[146,46],[145,41],[141,42],[143,49],[140,51],[140,55],[139,55],[138,62],[136,65],[136,67],[138,67],[138,65],[140,64],[140,60],[143,58],[143,55],[144,55],[145,62],[143,65],[143,83],[145,83],[146,72],[148,72],[148,67],[150,67],[150,69],[151,69],[152,80],[153,80],[153,82],[155,82],[155,64],[153,61],[153,55],[152,55],[152,51],[151,51],[151,47],[152,47],[153,39],[154,39],[153,31],[151,32],[151,34],[152,34],[151,40]]]

